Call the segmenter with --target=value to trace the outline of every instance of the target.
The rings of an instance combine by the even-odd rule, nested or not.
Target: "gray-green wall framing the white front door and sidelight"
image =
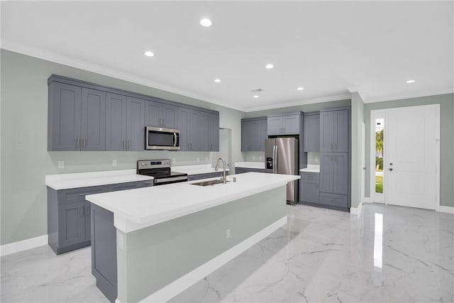
[[[454,94],[365,104],[366,197],[370,197],[370,111],[394,107],[440,104],[440,204],[454,206]]]

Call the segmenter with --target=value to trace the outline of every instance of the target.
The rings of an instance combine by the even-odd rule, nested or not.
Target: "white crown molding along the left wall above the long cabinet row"
[[[236,106],[227,106],[223,104],[218,99],[206,97],[196,92],[188,91],[186,89],[180,89],[179,87],[173,87],[171,85],[163,84],[161,82],[156,82],[150,79],[143,77],[137,77],[135,75],[128,74],[126,72],[121,72],[120,70],[114,70],[109,67],[104,67],[102,65],[96,65],[84,60],[77,60],[72,57],[67,57],[59,53],[53,53],[48,50],[43,50],[40,48],[33,48],[28,45],[23,45],[21,43],[16,43],[8,39],[1,39],[1,48],[4,50],[10,50],[14,53],[20,53],[22,55],[28,55],[31,57],[37,57],[38,59],[47,60],[50,62],[55,62],[61,65],[67,65],[70,67],[75,67],[80,70],[87,70],[88,72],[95,72],[99,75],[104,75],[108,77],[113,77],[116,79],[121,79],[127,82],[133,82],[135,84],[141,84],[146,87],[153,87],[155,89],[161,89],[165,92],[171,92],[173,94],[179,94],[184,97],[189,97],[193,99],[198,99],[200,101],[209,102],[211,104],[216,104],[218,106],[227,107],[229,109],[236,109],[237,111],[244,111],[244,109]]]

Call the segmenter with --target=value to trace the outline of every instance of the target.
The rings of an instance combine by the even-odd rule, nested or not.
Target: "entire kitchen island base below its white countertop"
[[[111,302],[117,285],[116,302],[167,301],[286,222],[286,186],[129,233],[116,229],[116,238],[113,213],[97,206],[92,209],[96,285]]]

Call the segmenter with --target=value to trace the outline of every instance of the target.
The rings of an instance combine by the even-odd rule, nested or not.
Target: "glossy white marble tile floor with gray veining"
[[[288,224],[171,302],[454,302],[454,216],[287,206]],[[1,302],[107,302],[90,248],[1,258]]]

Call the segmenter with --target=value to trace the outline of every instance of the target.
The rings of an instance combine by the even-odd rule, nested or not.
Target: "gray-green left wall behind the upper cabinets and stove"
[[[131,169],[138,159],[175,158],[174,165],[192,165],[217,158],[218,153],[167,151],[48,152],[47,80],[52,74],[219,111],[221,128],[232,130],[232,160],[243,160],[241,111],[1,50],[1,245],[47,234],[45,175]],[[57,168],[58,160],[65,161],[65,169]]]

